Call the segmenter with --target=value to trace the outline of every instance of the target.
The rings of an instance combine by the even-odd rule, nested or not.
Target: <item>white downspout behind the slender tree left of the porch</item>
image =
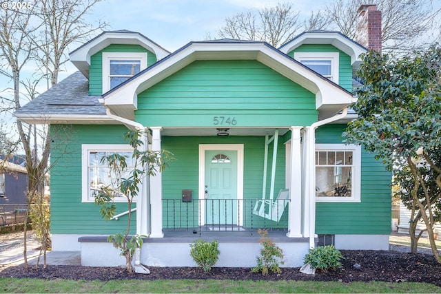
[[[138,123],[134,120],[129,120],[127,118],[123,118],[121,116],[116,116],[115,114],[112,114],[110,109],[104,105],[103,101],[100,101],[101,104],[105,107],[105,114],[109,116],[109,118],[112,118],[113,120],[119,121],[123,123],[128,129],[134,129],[145,132],[145,136],[143,136],[143,147],[144,150],[148,150],[148,132],[147,127],[144,127],[141,123]],[[148,218],[147,218],[147,208],[148,208],[148,201],[150,199],[150,189],[148,187],[148,180],[147,177],[143,177],[141,181],[141,197],[139,197],[136,200],[136,207],[140,207],[138,213],[136,213],[136,234],[137,235],[147,235],[148,234],[148,227],[150,227],[150,224],[147,224]],[[144,196],[144,197],[143,197]],[[141,264],[141,249],[136,249],[135,251],[135,265],[134,265],[134,271],[136,273],[150,273],[150,271],[145,268]]]

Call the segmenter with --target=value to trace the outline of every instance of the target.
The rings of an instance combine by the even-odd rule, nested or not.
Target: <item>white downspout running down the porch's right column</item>
[[[347,107],[343,109],[341,114],[337,114],[336,116],[332,116],[330,118],[326,118],[324,120],[317,121],[313,123],[309,127],[309,136],[307,136],[308,140],[308,151],[307,159],[306,159],[306,167],[309,169],[307,175],[309,178],[309,185],[305,187],[305,193],[309,196],[309,247],[314,248],[316,246],[316,129],[321,127],[322,125],[327,125],[328,123],[332,123],[336,120],[340,120],[347,116]]]

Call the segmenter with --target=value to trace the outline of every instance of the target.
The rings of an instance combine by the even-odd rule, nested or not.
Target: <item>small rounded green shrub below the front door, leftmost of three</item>
[[[213,242],[206,242],[201,239],[194,240],[194,244],[190,244],[190,255],[196,264],[204,271],[211,271],[212,266],[218,262],[219,249],[216,240]]]

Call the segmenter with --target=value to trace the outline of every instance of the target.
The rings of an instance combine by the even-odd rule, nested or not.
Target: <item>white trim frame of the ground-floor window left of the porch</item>
[[[90,151],[133,151],[132,146],[126,144],[82,144],[81,145],[81,202],[94,202],[89,197],[88,165]],[[125,198],[115,198],[114,202],[127,202]],[[133,199],[136,202],[136,197]]]

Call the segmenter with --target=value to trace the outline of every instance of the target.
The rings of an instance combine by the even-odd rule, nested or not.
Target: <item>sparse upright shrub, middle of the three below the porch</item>
[[[252,272],[261,272],[262,275],[267,275],[269,271],[271,273],[282,273],[279,264],[284,263],[283,250],[268,238],[268,230],[259,229],[258,233],[262,236],[259,243],[262,244],[263,249],[260,249],[260,256],[257,257],[257,266],[252,268]]]

